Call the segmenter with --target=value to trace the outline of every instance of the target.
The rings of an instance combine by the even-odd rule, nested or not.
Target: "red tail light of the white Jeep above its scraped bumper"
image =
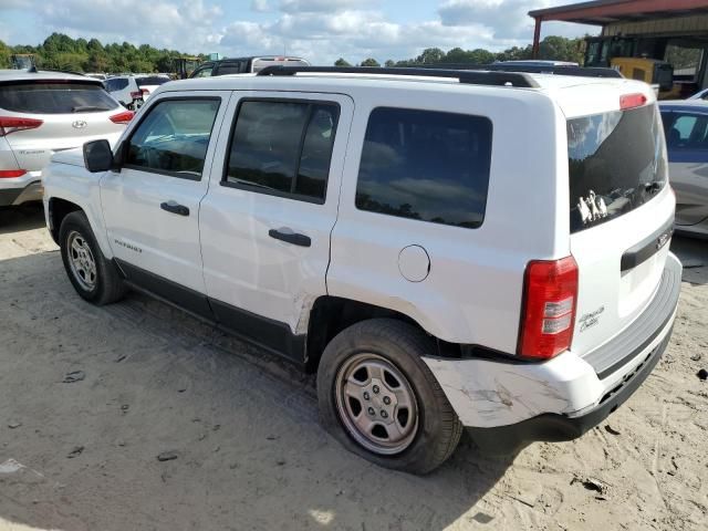
[[[529,262],[517,353],[548,360],[570,348],[576,302],[577,263],[573,257]]]

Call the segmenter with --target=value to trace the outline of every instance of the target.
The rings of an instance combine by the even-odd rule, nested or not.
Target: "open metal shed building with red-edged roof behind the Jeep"
[[[543,22],[598,25],[600,37],[586,39],[586,66],[614,66],[614,58],[665,61],[681,93],[708,87],[708,0],[595,0],[529,15],[535,19],[534,55]]]

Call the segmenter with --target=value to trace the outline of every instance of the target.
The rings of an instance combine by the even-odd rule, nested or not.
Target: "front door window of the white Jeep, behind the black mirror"
[[[218,100],[159,102],[131,137],[126,166],[199,178]]]

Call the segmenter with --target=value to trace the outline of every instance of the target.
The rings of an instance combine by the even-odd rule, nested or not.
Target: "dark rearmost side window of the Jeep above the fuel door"
[[[356,186],[361,210],[477,228],[485,219],[489,118],[379,107],[372,112]]]

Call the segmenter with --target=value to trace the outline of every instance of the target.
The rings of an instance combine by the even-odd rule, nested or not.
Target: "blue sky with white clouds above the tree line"
[[[301,55],[315,64],[416,56],[426,48],[500,51],[533,37],[530,10],[579,0],[0,0],[0,40],[56,31],[186,53]],[[598,29],[546,22],[542,37]]]

